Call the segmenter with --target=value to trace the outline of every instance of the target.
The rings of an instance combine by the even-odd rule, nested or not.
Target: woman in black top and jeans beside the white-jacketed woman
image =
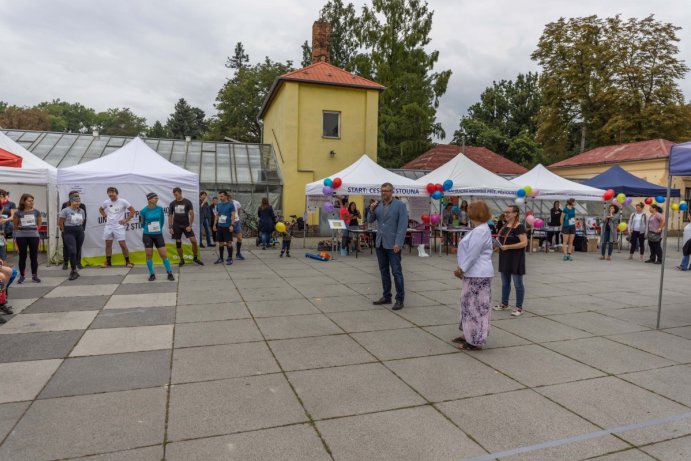
[[[511,315],[518,317],[523,314],[523,298],[525,287],[523,275],[525,275],[525,247],[528,246],[525,227],[520,221],[520,209],[516,205],[509,205],[504,210],[506,224],[497,235],[501,244],[499,249],[499,274],[501,274],[501,303],[494,306],[495,311],[503,311],[509,308],[509,295],[511,295],[511,280],[516,288],[516,307]]]

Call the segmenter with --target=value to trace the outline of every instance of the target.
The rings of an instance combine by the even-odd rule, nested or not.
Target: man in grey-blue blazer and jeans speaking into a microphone
[[[394,200],[393,186],[384,183],[381,186],[381,201],[370,204],[368,221],[379,223],[377,227],[377,260],[384,295],[373,304],[391,304],[391,273],[396,285],[396,304],[393,310],[403,308],[405,291],[403,290],[403,267],[401,266],[401,248],[408,229],[408,210],[403,202]],[[390,271],[389,271],[390,268]]]

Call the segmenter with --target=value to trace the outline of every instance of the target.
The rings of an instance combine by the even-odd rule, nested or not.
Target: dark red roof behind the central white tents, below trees
[[[415,160],[403,165],[407,170],[435,170],[461,153],[463,148],[454,144],[438,144]],[[523,174],[528,170],[486,147],[465,146],[465,156],[496,174]]]

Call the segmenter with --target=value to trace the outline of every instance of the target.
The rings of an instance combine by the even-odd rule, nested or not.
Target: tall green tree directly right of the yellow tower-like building
[[[445,137],[436,121],[451,71],[434,72],[439,52],[428,52],[433,11],[424,0],[372,0],[358,28],[366,50],[356,58],[363,76],[387,89],[379,101],[379,162],[400,166]]]

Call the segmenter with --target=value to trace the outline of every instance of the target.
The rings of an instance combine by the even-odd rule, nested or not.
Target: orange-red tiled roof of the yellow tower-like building
[[[281,83],[286,81],[314,83],[317,85],[345,86],[378,91],[384,91],[386,89],[386,87],[376,82],[367,80],[359,75],[353,75],[347,70],[343,70],[328,62],[317,62],[278,77],[269,89],[269,93],[266,95],[266,99],[264,99],[264,103],[259,110],[259,116],[257,118],[262,119],[264,117],[264,113],[271,105],[276,91],[281,86]]]

